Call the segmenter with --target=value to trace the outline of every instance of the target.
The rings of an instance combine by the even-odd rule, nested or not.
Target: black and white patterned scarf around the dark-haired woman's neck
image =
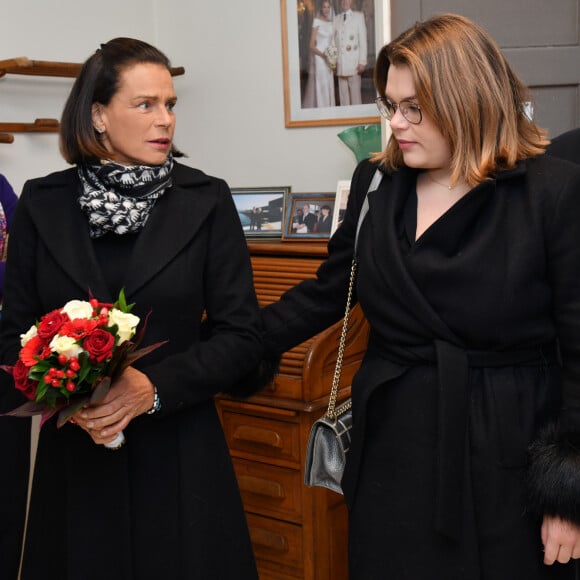
[[[107,232],[138,232],[157,199],[171,187],[173,156],[163,165],[121,165],[114,161],[80,165],[79,204],[89,220],[91,238]]]

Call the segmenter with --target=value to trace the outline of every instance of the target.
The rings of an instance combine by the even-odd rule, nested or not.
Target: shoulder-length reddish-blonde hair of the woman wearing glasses
[[[526,112],[529,90],[489,34],[468,18],[434,16],[384,46],[374,70],[381,97],[391,64],[409,67],[421,110],[448,140],[452,183],[463,178],[474,186],[543,153],[549,143]],[[392,169],[404,165],[394,138],[375,160]]]

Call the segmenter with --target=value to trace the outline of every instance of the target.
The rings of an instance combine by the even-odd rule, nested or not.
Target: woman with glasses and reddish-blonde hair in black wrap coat
[[[542,155],[526,88],[467,18],[393,40],[375,85],[387,147],[357,167],[317,278],[264,313],[277,352],[340,318],[378,169],[358,238],[371,331],[342,479],[350,578],[572,580],[580,168]]]

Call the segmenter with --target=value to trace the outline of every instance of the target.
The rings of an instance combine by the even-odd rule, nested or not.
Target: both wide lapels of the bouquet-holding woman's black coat
[[[196,235],[215,203],[199,188],[207,181],[203,173],[191,175],[175,164],[174,185],[158,200],[135,243],[124,280],[127,296],[146,284]],[[43,184],[38,203],[31,204],[32,219],[43,242],[82,295],[90,291],[112,301],[77,202],[80,187],[74,169],[53,174]]]

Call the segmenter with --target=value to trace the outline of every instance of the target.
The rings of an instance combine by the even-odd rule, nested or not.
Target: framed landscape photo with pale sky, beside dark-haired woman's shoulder
[[[231,191],[247,238],[282,237],[289,186],[232,187]]]

